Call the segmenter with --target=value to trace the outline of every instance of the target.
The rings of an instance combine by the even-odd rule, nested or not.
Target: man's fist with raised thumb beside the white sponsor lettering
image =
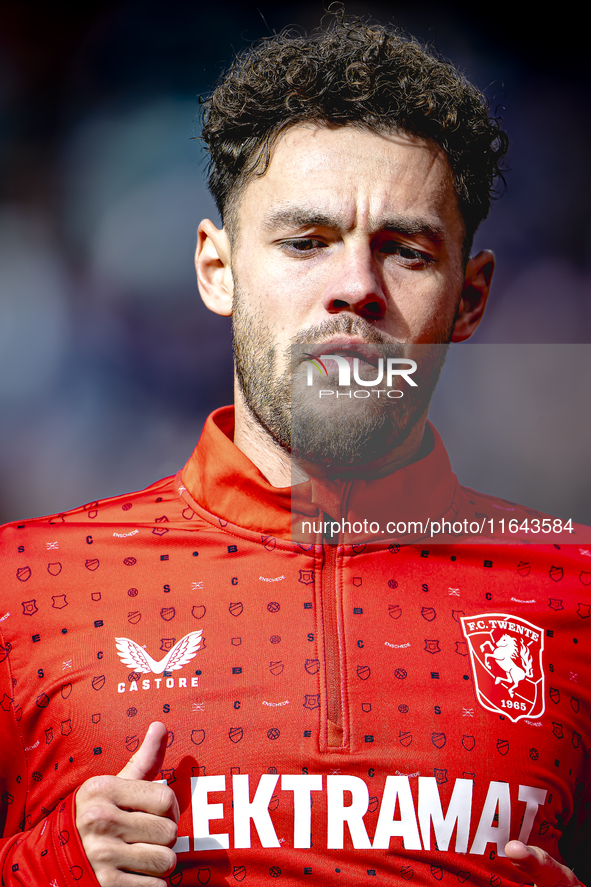
[[[179,807],[172,789],[150,782],[162,766],[167,730],[150,724],[117,776],[93,776],[76,795],[76,826],[101,887],[166,887]]]

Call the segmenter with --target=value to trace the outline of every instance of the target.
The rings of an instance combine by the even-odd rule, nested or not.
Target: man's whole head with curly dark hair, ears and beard
[[[203,139],[223,229],[218,232],[208,222],[200,227],[197,270],[206,304],[233,318],[234,442],[244,449],[244,441],[245,452],[247,437],[260,441],[265,453],[271,446],[274,455],[262,470],[277,485],[289,483],[296,452],[333,472],[376,456],[383,457],[383,472],[409,461],[423,438],[445,347],[432,351],[432,372],[404,419],[401,404],[385,398],[373,409],[364,402],[356,420],[358,404],[348,413],[340,404],[341,421],[346,417],[357,429],[357,434],[340,434],[322,402],[310,421],[305,412],[297,413],[297,440],[292,439],[297,407],[290,405],[288,357],[298,345],[321,342],[326,350],[335,338],[341,347],[350,349],[361,340],[378,350],[382,346],[384,356],[387,348],[392,356],[402,353],[401,342],[444,346],[471,335],[482,317],[494,257],[485,251],[470,258],[470,250],[507,150],[507,137],[488,116],[483,96],[416,42],[383,28],[341,24],[312,38],[262,41],[237,59],[205,103]],[[394,207],[388,201],[388,171],[398,179],[394,171],[403,167],[408,173],[396,187],[406,193]],[[345,177],[359,191],[366,180],[363,205],[355,209],[336,191]],[[302,201],[293,188],[271,194],[275,179],[287,185],[288,178],[304,190],[321,191],[318,206],[311,196]],[[411,212],[427,180],[431,196]],[[321,201],[326,208],[319,211]],[[356,213],[365,216],[363,261]],[[264,254],[253,242],[257,224],[268,235]],[[346,231],[355,234],[352,265]],[[329,236],[318,238],[318,233]],[[240,262],[242,255],[249,257],[246,263]],[[297,272],[283,277],[278,255]],[[218,261],[232,274],[225,290],[213,275]],[[302,286],[304,269],[310,269],[306,286],[310,296],[317,293],[320,311],[312,312],[294,292]],[[257,278],[260,273],[264,281]],[[406,303],[401,296],[389,298],[389,290],[400,285]],[[286,304],[293,320],[289,327]],[[384,423],[384,433],[376,437]],[[400,449],[408,435],[411,440]],[[255,464],[262,467],[256,459]]]

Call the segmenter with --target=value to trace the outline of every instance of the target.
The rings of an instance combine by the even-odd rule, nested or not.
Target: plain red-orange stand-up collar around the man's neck
[[[451,470],[443,441],[428,423],[433,448],[377,480],[310,479],[294,487],[274,487],[233,442],[234,408],[212,413],[182,471],[182,482],[203,508],[234,525],[277,538],[292,538],[298,521],[401,520],[425,523],[450,512],[461,487]],[[412,542],[422,534],[403,534]],[[370,536],[368,536],[370,538]],[[383,537],[382,537],[383,539]]]

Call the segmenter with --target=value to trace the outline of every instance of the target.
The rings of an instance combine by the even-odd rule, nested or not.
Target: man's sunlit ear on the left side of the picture
[[[232,314],[234,280],[230,264],[230,240],[225,228],[204,219],[197,229],[195,270],[201,298],[210,311]]]

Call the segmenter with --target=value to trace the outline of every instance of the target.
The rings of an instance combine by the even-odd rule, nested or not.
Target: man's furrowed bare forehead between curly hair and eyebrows
[[[353,126],[291,128],[243,198],[265,228],[304,226],[316,217],[319,225],[347,230],[362,222],[375,230],[400,214],[437,228],[450,198],[457,215],[451,169],[438,146]]]

